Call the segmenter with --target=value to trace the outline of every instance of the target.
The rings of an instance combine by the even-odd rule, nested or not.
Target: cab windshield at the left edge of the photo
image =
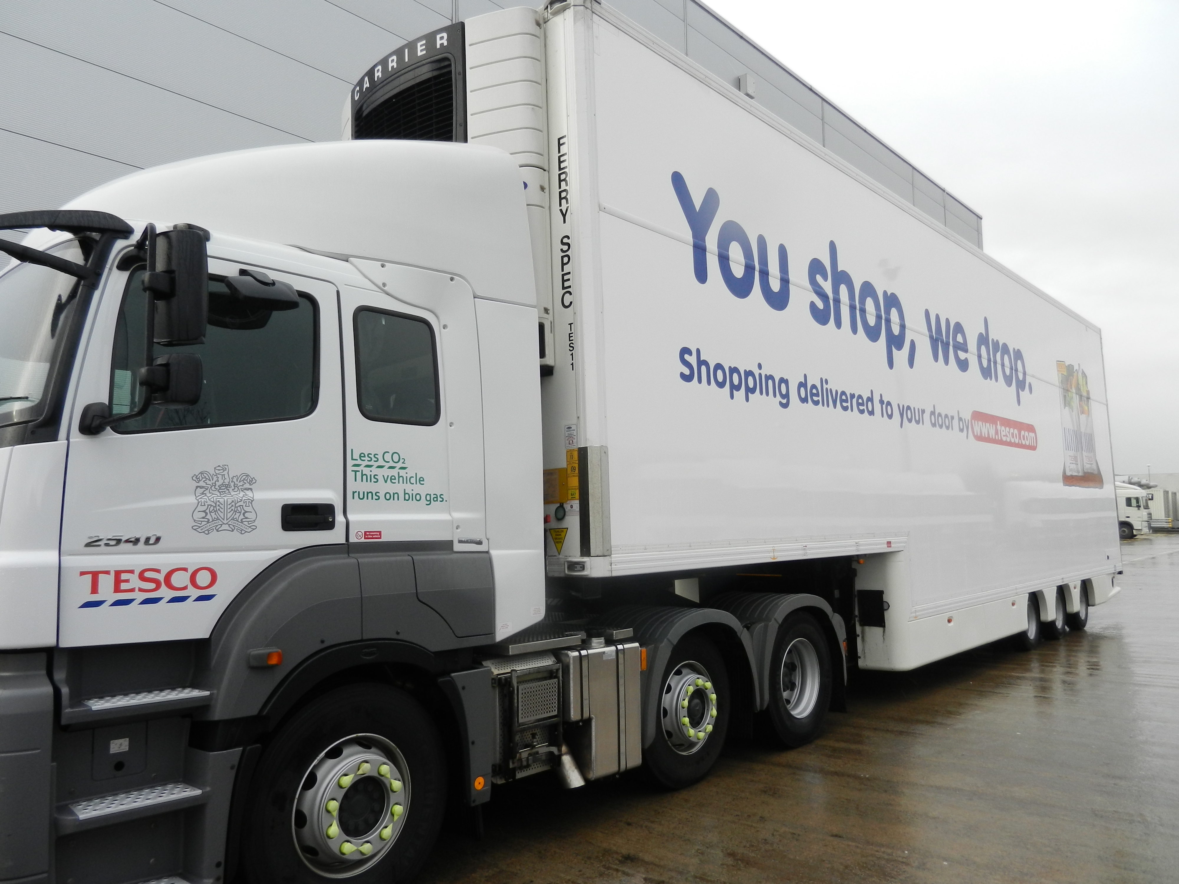
[[[47,250],[85,264],[77,239]],[[45,395],[58,332],[78,281],[37,264],[18,263],[0,276],[0,427],[32,420]]]

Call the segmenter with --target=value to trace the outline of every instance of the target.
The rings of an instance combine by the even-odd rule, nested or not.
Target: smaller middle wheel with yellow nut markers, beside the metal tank
[[[689,635],[672,649],[663,673],[659,732],[645,754],[647,771],[666,789],[704,779],[729,731],[729,673],[716,646]]]

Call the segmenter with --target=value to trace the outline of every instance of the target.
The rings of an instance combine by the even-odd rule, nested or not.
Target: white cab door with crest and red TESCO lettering
[[[216,243],[213,243],[216,246]],[[298,306],[246,310],[220,282],[256,269]],[[143,268],[107,283],[84,357],[66,467],[62,646],[204,638],[233,596],[294,549],[344,540],[338,295],[329,283],[210,257],[200,400],[78,431],[88,402],[143,391]]]

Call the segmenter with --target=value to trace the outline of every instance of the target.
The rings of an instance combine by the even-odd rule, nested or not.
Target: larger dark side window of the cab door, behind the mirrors
[[[146,391],[136,371],[149,364],[146,293],[143,271],[127,281],[111,359],[111,414],[139,408]],[[235,298],[225,284],[209,279],[209,329],[203,344],[153,344],[152,357],[171,352],[198,354],[204,370],[200,400],[186,408],[152,405],[132,421],[114,424],[117,433],[146,433],[191,427],[224,427],[303,417],[318,395],[317,314],[315,301],[299,292],[295,310],[253,310]]]

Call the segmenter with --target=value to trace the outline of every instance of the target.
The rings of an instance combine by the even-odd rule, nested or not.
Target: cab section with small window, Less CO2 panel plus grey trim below
[[[474,293],[462,279],[353,259],[344,286],[345,506],[365,638],[490,638]],[[440,620],[439,620],[440,618]],[[449,638],[453,641],[453,638]]]

